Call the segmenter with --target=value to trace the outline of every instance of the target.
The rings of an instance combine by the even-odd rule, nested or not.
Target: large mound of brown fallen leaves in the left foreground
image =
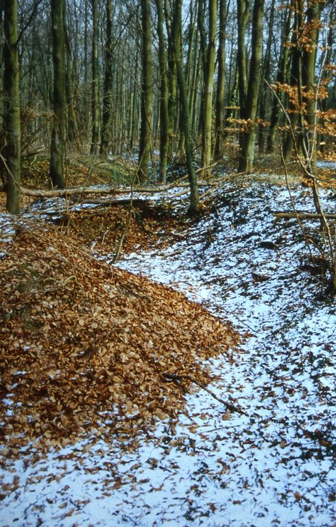
[[[1,251],[7,455],[35,439],[58,447],[93,430],[128,437],[173,418],[183,390],[163,373],[205,384],[200,361],[237,344],[200,305],[97,261],[52,226],[21,221]]]

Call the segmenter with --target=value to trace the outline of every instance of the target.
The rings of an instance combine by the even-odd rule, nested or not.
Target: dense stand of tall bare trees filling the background
[[[60,187],[70,154],[132,154],[142,182],[165,182],[176,159],[190,165],[191,181],[195,160],[204,174],[223,156],[251,172],[256,155],[274,153],[279,141],[290,159],[289,122],[304,155],[315,139],[315,152],[333,153],[335,1],[3,0],[0,7],[3,183],[16,177],[6,165],[15,171],[8,119],[18,106],[21,156],[51,152],[51,182]],[[17,11],[17,34],[8,10]]]

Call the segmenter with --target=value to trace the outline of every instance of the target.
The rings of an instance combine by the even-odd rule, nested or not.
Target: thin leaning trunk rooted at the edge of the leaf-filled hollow
[[[186,152],[187,172],[190,187],[190,207],[189,213],[195,215],[200,209],[200,198],[198,195],[197,178],[193,169],[193,148],[191,143],[189,102],[187,96],[187,86],[184,78],[183,61],[180,42],[182,39],[182,0],[175,0],[175,10],[173,13],[172,36],[176,46],[173,48],[173,56],[176,60],[176,72],[178,78],[178,88],[180,91],[180,105],[182,114],[182,128],[184,132],[184,147]]]

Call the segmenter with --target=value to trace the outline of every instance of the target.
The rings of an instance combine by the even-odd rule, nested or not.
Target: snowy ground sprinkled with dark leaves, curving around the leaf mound
[[[335,212],[333,191],[323,198]],[[311,207],[301,189],[298,209]],[[232,361],[212,361],[211,386],[245,415],[198,390],[176,425],[160,423],[134,452],[111,438],[8,460],[1,527],[336,525],[335,298],[304,270],[296,220],[274,220],[285,209],[285,187],[226,183],[175,245],[118,264],[246,333]]]

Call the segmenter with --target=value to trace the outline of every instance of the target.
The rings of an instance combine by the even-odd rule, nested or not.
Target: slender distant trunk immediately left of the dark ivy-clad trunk
[[[91,0],[92,9],[92,79],[91,79],[91,148],[90,153],[99,152],[99,64],[98,64],[98,0]]]

